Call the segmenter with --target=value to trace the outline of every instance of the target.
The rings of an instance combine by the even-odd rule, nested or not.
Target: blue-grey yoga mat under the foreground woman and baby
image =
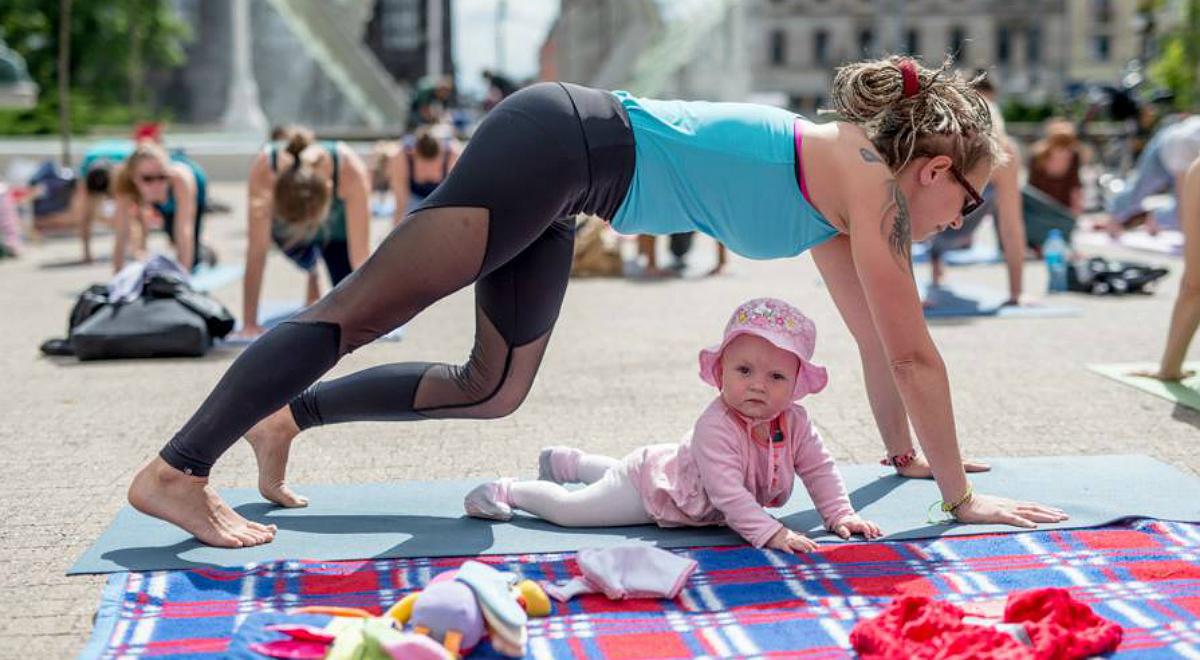
[[[995,458],[992,472],[973,474],[980,492],[1060,506],[1072,520],[1054,528],[1096,527],[1126,517],[1200,522],[1200,479],[1146,456],[1061,456]],[[932,481],[901,479],[882,466],[842,468],[851,502],[880,523],[886,540],[1020,532],[1004,526],[931,524],[928,510],[938,500]],[[164,522],[128,506],[67,571],[68,575],[124,570],[238,566],[278,559],[368,559],[568,552],[583,547],[647,544],[659,547],[726,546],[744,541],[726,528],[655,526],[563,528],[518,514],[511,522],[468,518],[463,496],[479,480],[401,481],[310,486],[306,509],[280,509],[257,491],[222,494],[244,516],[278,526],[275,541],[223,550],[198,544]],[[1153,484],[1153,487],[1138,487]],[[772,510],[792,529],[838,542],[797,484],[787,506]]]

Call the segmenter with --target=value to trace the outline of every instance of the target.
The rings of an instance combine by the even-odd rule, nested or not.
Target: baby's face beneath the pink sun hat
[[[775,419],[792,403],[800,360],[762,337],[740,335],[721,354],[721,400],[756,421]]]

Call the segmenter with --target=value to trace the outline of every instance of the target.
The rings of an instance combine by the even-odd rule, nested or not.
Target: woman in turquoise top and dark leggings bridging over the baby
[[[1000,157],[986,108],[967,83],[910,60],[845,67],[839,90],[850,122],[824,127],[778,108],[558,83],[515,94],[361,269],[242,353],[138,473],[130,502],[210,545],[266,542],[274,527],[242,518],[208,486],[210,468],[240,437],[254,448],[262,493],[300,506],[283,475],[305,428],[510,414],[533,384],[563,301],[570,217],[586,212],[625,233],[700,229],[755,258],[817,247],[859,340],[893,464],[931,472],[965,522],[1061,520],[971,492],[944,366],[912,281],[912,236],[961,222],[978,199],[971,181],[983,185]],[[383,365],[313,385],[347,353],[470,283],[476,329],[464,364]],[[910,456],[906,413],[928,463]]]

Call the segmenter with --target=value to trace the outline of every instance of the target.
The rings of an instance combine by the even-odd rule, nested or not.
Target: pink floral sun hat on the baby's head
[[[721,386],[716,377],[716,366],[721,361],[725,347],[739,335],[762,337],[800,360],[800,372],[796,378],[796,389],[792,390],[792,401],[816,394],[829,383],[829,374],[824,367],[811,362],[812,350],[817,343],[817,326],[812,319],[778,298],[748,300],[733,311],[733,316],[725,325],[725,338],[721,343],[700,352],[701,380],[718,389]]]

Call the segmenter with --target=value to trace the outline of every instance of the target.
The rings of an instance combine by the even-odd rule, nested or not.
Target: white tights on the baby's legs
[[[509,486],[514,509],[563,527],[619,527],[654,522],[620,461],[595,454],[580,458],[577,491],[552,481],[515,481]]]

